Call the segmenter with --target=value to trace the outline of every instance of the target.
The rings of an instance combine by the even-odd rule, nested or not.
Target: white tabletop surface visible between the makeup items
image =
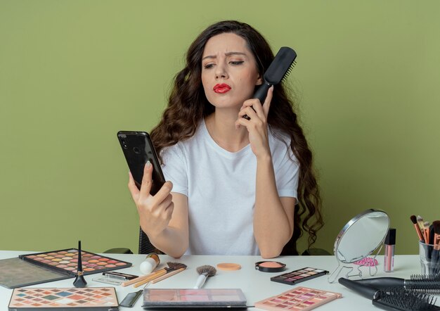
[[[29,251],[0,251],[0,259],[16,258],[18,255],[32,253]],[[120,254],[105,254],[111,258],[117,258],[131,262],[132,267],[119,269],[120,272],[126,272],[129,274],[140,275],[139,265],[145,259],[145,255],[120,255]],[[193,255],[183,256],[176,260],[169,258],[166,255],[160,255],[161,263],[158,268],[164,267],[167,262],[183,262],[188,268],[157,282],[156,284],[150,284],[151,288],[193,288],[195,281],[198,277],[196,268],[201,265],[216,265],[220,262],[235,262],[241,265],[241,269],[237,271],[222,271],[217,269],[217,273],[214,277],[209,277],[203,286],[204,288],[241,288],[247,298],[247,305],[253,305],[259,300],[268,298],[270,296],[278,295],[284,291],[288,291],[295,286],[305,286],[310,288],[316,288],[326,291],[333,291],[342,293],[342,298],[334,300],[330,303],[318,307],[318,310],[353,310],[356,307],[356,311],[361,310],[379,310],[374,307],[371,300],[358,296],[358,294],[350,291],[348,288],[335,282],[330,284],[328,276],[318,277],[316,279],[310,279],[304,281],[295,286],[280,284],[270,280],[271,277],[281,274],[283,272],[268,273],[259,272],[255,269],[255,262],[263,260],[259,256],[207,256],[207,255]],[[337,267],[337,260],[335,256],[285,256],[273,259],[275,261],[283,262],[286,264],[284,272],[290,272],[295,269],[303,267],[315,267],[318,269],[325,269],[333,272]],[[377,274],[375,277],[400,277],[403,279],[409,279],[411,274],[420,274],[420,261],[418,255],[397,255],[394,258],[394,272],[383,272],[383,257],[377,256],[379,266],[377,268]],[[344,273],[345,270],[342,270]],[[87,286],[89,287],[103,287],[110,286],[108,284],[92,281],[93,278],[99,274],[91,274],[85,277]],[[368,268],[363,267],[364,277],[370,277],[368,275]],[[342,276],[342,275],[341,275]],[[74,279],[65,279],[61,281],[53,281],[44,284],[37,284],[30,287],[73,287]],[[133,288],[132,286],[122,287],[115,286],[119,302],[127,295],[134,291],[138,291],[142,288]],[[0,286],[0,310],[8,310],[8,303],[11,298],[12,289],[4,288]],[[139,298],[136,305],[133,308],[119,307],[119,310],[143,310],[142,298]],[[250,310],[256,310],[252,308]]]

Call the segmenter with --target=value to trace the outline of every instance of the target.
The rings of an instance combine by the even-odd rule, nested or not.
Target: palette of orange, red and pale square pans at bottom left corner
[[[115,288],[14,288],[8,310],[119,310]]]

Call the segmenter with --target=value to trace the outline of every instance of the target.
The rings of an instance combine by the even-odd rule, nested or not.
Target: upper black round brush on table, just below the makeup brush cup
[[[440,277],[425,275],[412,275],[411,279],[398,277],[375,277],[371,279],[359,279],[356,283],[372,286],[377,289],[401,287],[422,293],[440,293]]]

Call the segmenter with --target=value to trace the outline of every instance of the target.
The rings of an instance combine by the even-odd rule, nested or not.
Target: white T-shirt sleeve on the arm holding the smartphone
[[[188,174],[186,158],[180,144],[164,148],[162,151],[162,171],[166,180],[173,183],[172,192],[188,196]]]

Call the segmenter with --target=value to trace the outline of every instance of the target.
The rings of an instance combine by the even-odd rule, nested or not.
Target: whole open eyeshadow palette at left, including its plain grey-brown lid
[[[82,250],[84,275],[131,267],[124,262]],[[68,279],[77,274],[78,250],[69,248],[0,260],[0,285],[17,288]]]

